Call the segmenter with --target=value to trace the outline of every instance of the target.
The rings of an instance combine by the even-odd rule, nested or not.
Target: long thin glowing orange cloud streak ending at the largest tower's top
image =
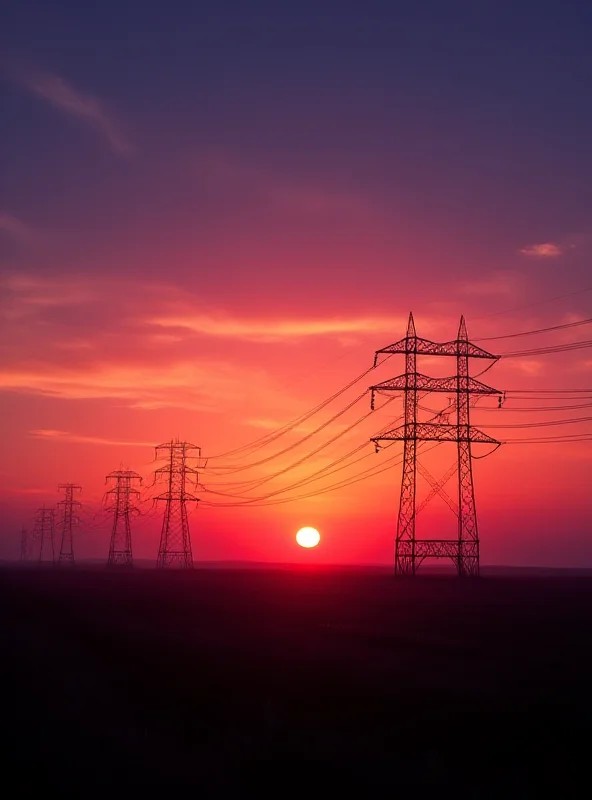
[[[392,317],[352,317],[350,319],[235,319],[208,315],[153,317],[152,325],[185,329],[204,336],[273,342],[312,336],[342,337],[343,334],[371,334],[404,330],[406,322]]]

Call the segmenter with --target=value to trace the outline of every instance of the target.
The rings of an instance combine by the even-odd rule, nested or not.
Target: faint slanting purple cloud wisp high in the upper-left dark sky
[[[19,74],[19,82],[33,95],[42,98],[54,108],[94,128],[119,155],[128,155],[132,152],[119,124],[96,97],[84,94],[66,83],[59,75],[47,72],[22,71]]]

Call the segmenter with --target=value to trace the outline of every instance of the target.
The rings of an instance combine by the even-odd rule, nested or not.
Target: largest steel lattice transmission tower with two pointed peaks
[[[417,336],[413,314],[409,315],[405,338],[378,350],[374,358],[375,365],[378,356],[383,353],[403,353],[405,355],[405,373],[403,375],[370,387],[372,408],[374,408],[374,396],[377,392],[403,392],[404,397],[404,424],[372,439],[377,449],[378,443],[384,440],[404,442],[403,477],[395,543],[395,574],[415,575],[426,558],[450,558],[459,575],[476,576],[479,574],[479,534],[473,488],[471,444],[479,442],[497,447],[499,442],[471,426],[469,409],[471,396],[493,395],[500,394],[500,392],[470,377],[469,358],[495,361],[498,356],[469,342],[464,317],[461,317],[458,336],[454,341],[436,344]],[[430,378],[419,373],[417,371],[418,355],[456,358],[456,375],[450,378]],[[420,421],[418,419],[419,392],[422,395],[431,392],[452,395],[454,397],[453,404],[456,407],[456,420],[451,423],[449,416],[454,412],[448,412],[439,415],[436,422]],[[452,472],[449,471],[440,481],[436,481],[423,464],[418,464],[418,443],[422,442],[455,442],[458,451],[456,469]],[[456,539],[416,538],[415,519],[419,510],[416,509],[418,468],[432,487],[429,497],[435,495],[443,497],[458,517]],[[444,492],[444,484],[454,472],[458,475],[458,505]]]

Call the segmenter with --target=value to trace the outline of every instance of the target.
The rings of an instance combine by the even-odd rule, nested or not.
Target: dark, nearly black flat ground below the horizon
[[[588,794],[590,578],[13,569],[0,620],[7,796]]]

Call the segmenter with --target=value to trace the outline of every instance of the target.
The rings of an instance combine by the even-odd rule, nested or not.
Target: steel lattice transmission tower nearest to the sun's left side
[[[192,451],[197,455],[192,455]],[[189,521],[187,519],[187,503],[197,503],[198,498],[187,493],[187,483],[193,477],[197,486],[198,471],[196,467],[188,465],[188,459],[201,456],[201,448],[189,442],[172,440],[158,445],[156,457],[166,457],[167,464],[155,471],[155,475],[162,475],[167,481],[167,491],[158,495],[156,501],[166,502],[160,545],[158,548],[157,567],[193,567],[191,552],[191,536]]]

